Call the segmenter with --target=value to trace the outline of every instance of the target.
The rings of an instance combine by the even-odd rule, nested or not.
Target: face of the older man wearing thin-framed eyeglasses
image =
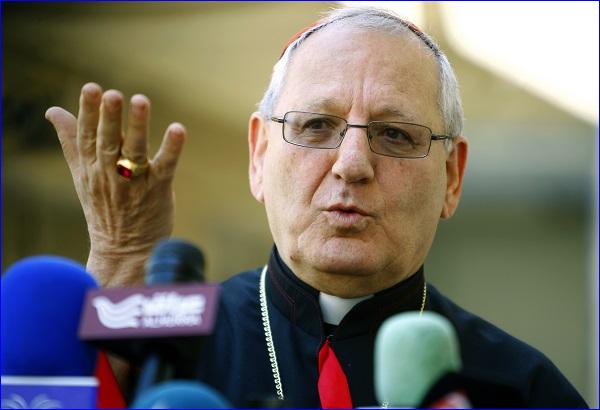
[[[296,51],[273,114],[404,121],[443,134],[437,97],[437,63],[417,38],[330,27]],[[443,142],[425,158],[399,159],[373,153],[364,129],[350,128],[337,149],[311,149],[285,142],[281,127],[251,119],[251,186],[296,275],[352,297],[415,272],[460,194],[458,181],[455,201],[448,198],[455,172],[448,176]]]

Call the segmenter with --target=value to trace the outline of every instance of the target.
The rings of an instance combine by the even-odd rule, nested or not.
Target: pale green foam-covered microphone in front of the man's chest
[[[375,395],[382,406],[470,408],[454,327],[433,312],[387,319],[375,340]]]

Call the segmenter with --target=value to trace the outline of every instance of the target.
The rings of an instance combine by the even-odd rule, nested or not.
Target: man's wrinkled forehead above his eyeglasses
[[[358,110],[371,119],[395,112],[398,120],[431,124],[438,79],[433,52],[408,30],[334,24],[294,51],[277,105],[338,115]]]

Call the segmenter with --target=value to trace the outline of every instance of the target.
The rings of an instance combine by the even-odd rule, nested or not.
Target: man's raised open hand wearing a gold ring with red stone
[[[171,234],[172,181],[186,138],[181,124],[169,125],[160,149],[148,160],[150,100],[140,94],[131,98],[125,132],[122,112],[123,95],[103,93],[95,83],[81,89],[77,118],[60,107],[46,111],[87,222],[88,270],[109,286],[141,281],[154,243]],[[120,159],[138,164],[141,173],[129,178],[127,168],[119,173]]]

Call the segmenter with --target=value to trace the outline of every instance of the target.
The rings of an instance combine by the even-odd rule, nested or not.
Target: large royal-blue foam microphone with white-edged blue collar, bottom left
[[[29,257],[4,273],[2,408],[96,407],[98,352],[77,328],[85,294],[97,287],[83,266],[57,256]]]

